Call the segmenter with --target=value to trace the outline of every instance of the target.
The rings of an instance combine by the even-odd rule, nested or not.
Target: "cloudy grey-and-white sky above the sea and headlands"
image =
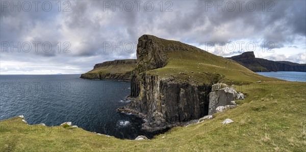
[[[1,1],[1,74],[80,74],[144,34],[221,56],[306,62],[305,1]]]

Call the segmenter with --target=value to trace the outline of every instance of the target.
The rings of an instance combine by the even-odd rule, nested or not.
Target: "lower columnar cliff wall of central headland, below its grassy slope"
[[[211,85],[175,83],[157,75],[142,74],[138,97],[118,111],[132,112],[146,118],[143,128],[162,130],[180,122],[198,119],[208,114]],[[133,81],[132,81],[133,82]],[[134,82],[134,85],[137,82]],[[136,90],[136,89],[135,89]],[[131,95],[137,93],[131,93]]]

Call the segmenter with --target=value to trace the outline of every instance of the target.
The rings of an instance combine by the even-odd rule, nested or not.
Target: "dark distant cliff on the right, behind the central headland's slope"
[[[256,58],[254,52],[244,52],[240,55],[228,57],[254,72],[264,71],[297,71],[306,72],[306,64],[297,64],[287,61],[272,61]]]

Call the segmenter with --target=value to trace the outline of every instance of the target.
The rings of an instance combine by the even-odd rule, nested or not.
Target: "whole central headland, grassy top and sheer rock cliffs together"
[[[177,41],[144,35],[137,45],[131,104],[118,108],[146,118],[143,128],[160,130],[208,114],[217,82],[267,80],[233,60]]]

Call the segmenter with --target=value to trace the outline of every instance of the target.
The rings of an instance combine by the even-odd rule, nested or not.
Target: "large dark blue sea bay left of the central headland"
[[[130,82],[86,80],[80,75],[0,75],[0,120],[24,115],[30,125],[71,121],[84,130],[121,139],[156,133],[141,129],[143,119],[118,113],[130,101]]]

